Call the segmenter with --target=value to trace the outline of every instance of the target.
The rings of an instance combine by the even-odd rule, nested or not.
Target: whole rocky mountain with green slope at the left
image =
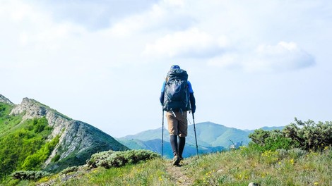
[[[15,105],[0,94],[0,178],[20,169],[61,171],[110,149],[128,147],[34,99]]]

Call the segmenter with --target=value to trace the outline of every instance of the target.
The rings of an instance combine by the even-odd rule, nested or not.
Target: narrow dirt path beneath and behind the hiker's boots
[[[172,180],[179,186],[193,185],[194,183],[194,179],[186,175],[185,167],[187,164],[186,161],[183,161],[180,163],[180,166],[173,166],[171,161],[167,162],[167,173],[171,175]]]

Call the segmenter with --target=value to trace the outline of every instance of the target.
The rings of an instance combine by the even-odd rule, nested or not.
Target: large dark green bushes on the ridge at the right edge
[[[275,149],[298,148],[305,151],[321,151],[332,144],[332,122],[318,124],[312,120],[302,122],[295,118],[296,123],[290,123],[280,130],[254,130],[249,135],[249,146],[261,151]]]

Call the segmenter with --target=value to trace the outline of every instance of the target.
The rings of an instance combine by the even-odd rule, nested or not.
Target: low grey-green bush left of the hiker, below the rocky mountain
[[[130,151],[102,151],[93,154],[87,161],[90,168],[99,166],[105,168],[121,167],[129,164],[138,163],[160,157],[159,154],[148,150],[130,150]]]

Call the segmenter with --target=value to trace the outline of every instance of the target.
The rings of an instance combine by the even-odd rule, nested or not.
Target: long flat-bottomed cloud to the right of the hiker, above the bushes
[[[209,66],[242,69],[249,72],[278,72],[313,66],[314,56],[300,49],[295,42],[276,45],[261,44],[254,51],[223,54],[208,61]]]

